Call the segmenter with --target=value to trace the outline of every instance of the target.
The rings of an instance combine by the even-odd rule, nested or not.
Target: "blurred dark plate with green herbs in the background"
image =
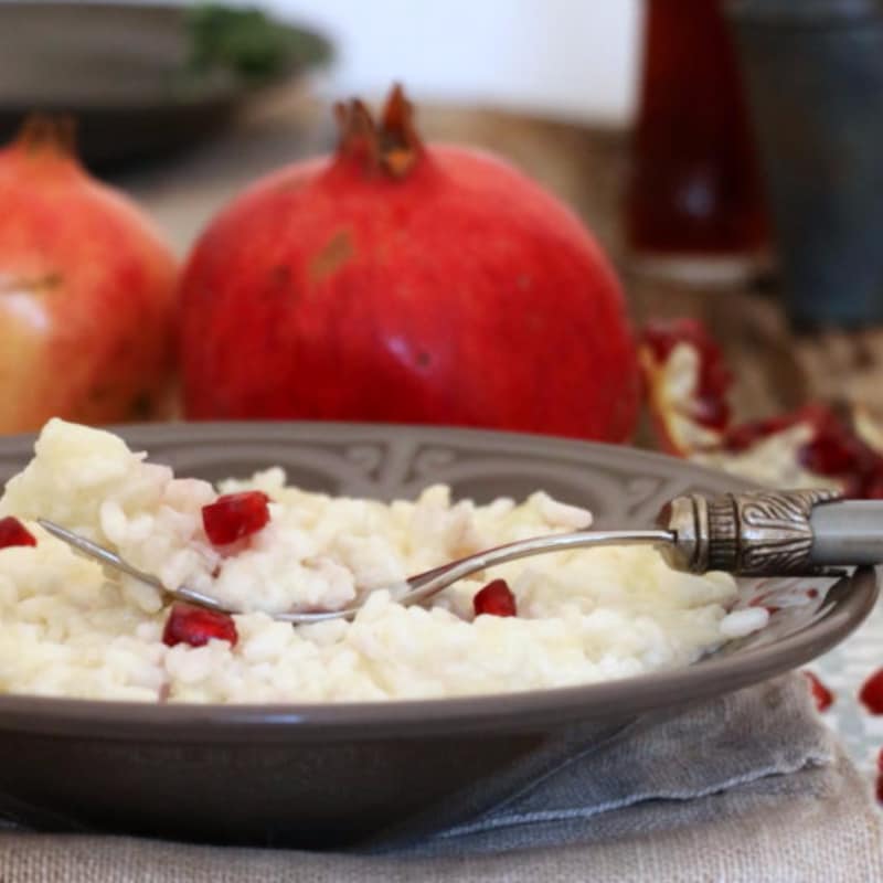
[[[0,2],[0,141],[44,110],[75,118],[93,168],[162,157],[210,137],[257,91],[330,54],[311,31],[237,14],[253,13]]]

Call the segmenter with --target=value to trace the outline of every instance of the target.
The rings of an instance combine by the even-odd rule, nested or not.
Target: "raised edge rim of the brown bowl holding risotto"
[[[503,448],[543,445],[544,450],[577,459],[598,459],[615,454],[615,459],[670,466],[675,471],[703,478],[732,490],[752,487],[748,482],[716,469],[679,460],[668,455],[621,445],[560,438],[540,434],[512,433],[469,427],[414,424],[340,422],[226,421],[200,423],[127,424],[103,427],[124,437],[136,436],[137,444],[151,439],[170,440],[184,433],[231,435],[262,440],[289,442],[352,440],[353,436],[416,434],[439,444],[472,440]],[[170,435],[171,433],[171,435]],[[0,438],[0,458],[28,456],[36,433]],[[268,438],[269,437],[269,438]],[[573,687],[491,693],[445,699],[377,700],[370,702],[325,703],[150,703],[116,700],[86,700],[29,694],[0,695],[0,731],[55,736],[102,737],[126,741],[182,742],[315,741],[395,737],[456,736],[466,734],[517,733],[547,730],[551,722],[603,720],[637,716],[670,706],[671,696],[698,701],[722,692],[757,683],[790,671],[833,647],[853,631],[870,614],[879,595],[873,567],[860,567],[831,586],[830,602],[813,623],[768,645],[710,658],[692,666]],[[588,710],[586,706],[589,706]]]

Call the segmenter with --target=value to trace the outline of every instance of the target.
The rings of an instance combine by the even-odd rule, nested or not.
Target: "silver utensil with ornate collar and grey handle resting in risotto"
[[[115,552],[53,521],[38,519],[49,533],[78,552],[180,600],[212,610],[237,613],[187,586],[171,589]],[[494,546],[385,586],[398,604],[422,604],[458,579],[498,564],[533,555],[610,545],[651,545],[670,566],[691,573],[711,570],[734,575],[829,574],[829,565],[883,562],[883,502],[839,500],[827,490],[755,491],[719,498],[677,497],[667,503],[657,529],[575,531]],[[359,604],[339,610],[273,614],[274,619],[309,625],[352,619]]]

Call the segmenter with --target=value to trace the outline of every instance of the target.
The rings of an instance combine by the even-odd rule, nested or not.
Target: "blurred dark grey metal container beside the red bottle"
[[[728,15],[798,328],[883,322],[883,2]]]

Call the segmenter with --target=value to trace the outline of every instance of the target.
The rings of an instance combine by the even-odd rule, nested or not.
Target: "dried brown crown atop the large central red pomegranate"
[[[414,128],[414,106],[397,83],[386,99],[380,125],[359,98],[339,102],[334,116],[340,127],[338,156],[354,160],[368,172],[405,178],[424,153]]]

